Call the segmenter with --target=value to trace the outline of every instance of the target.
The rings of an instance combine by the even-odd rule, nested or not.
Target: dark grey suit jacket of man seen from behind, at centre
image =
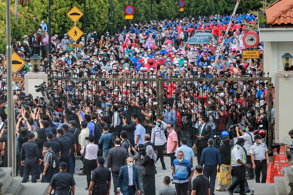
[[[127,158],[127,150],[121,146],[115,146],[109,150],[107,168],[111,168],[111,171],[118,172],[122,166],[126,165]]]

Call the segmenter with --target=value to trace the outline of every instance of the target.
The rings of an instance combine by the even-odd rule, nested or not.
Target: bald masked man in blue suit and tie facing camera
[[[133,158],[127,158],[127,165],[121,167],[117,178],[117,192],[122,194],[140,194],[140,183],[137,167],[133,166]]]

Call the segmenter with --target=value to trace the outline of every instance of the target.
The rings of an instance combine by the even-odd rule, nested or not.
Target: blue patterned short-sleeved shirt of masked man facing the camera
[[[179,162],[179,159],[175,159],[171,168],[175,169],[175,174],[173,175],[174,183],[188,182],[189,170],[193,171],[194,169],[193,165],[185,158],[183,158],[182,163]]]

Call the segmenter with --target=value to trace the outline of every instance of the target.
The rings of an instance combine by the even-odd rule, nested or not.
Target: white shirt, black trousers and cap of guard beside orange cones
[[[260,138],[260,137],[259,137]],[[262,138],[262,137],[261,137]],[[255,165],[255,182],[260,183],[260,171],[262,173],[261,183],[265,183],[267,179],[267,160],[265,158],[265,152],[268,148],[265,143],[257,144],[256,142],[250,146],[250,153],[253,154]]]

